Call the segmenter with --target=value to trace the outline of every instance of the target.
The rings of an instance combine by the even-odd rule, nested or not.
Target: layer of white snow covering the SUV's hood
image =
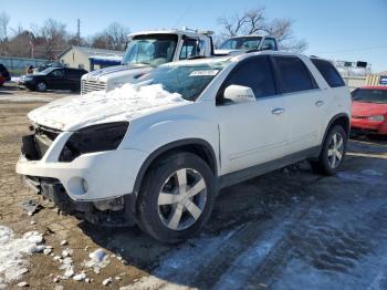
[[[161,84],[124,84],[111,92],[92,92],[63,97],[35,108],[28,117],[39,125],[72,131],[88,125],[129,121],[133,117],[190,103],[177,93],[169,93]]]

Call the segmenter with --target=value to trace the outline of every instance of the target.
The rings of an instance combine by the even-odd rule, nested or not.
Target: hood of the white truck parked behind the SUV
[[[83,80],[87,81],[107,81],[107,79],[117,79],[127,75],[136,75],[142,73],[147,73],[151,71],[153,68],[145,64],[136,65],[115,65],[105,68],[98,71],[93,71],[82,76]]]

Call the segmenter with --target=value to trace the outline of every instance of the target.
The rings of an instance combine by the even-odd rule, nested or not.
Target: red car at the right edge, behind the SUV
[[[353,93],[351,131],[387,135],[387,86],[364,86]]]

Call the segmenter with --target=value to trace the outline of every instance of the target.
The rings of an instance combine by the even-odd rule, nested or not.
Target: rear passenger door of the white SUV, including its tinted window
[[[318,144],[324,100],[305,63],[297,56],[275,55],[280,91],[286,104],[287,146],[285,154],[301,152]]]

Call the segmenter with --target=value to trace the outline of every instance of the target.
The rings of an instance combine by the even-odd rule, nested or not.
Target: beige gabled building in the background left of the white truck
[[[109,65],[119,64],[124,56],[123,51],[101,50],[85,46],[69,46],[57,55],[57,60],[69,68],[100,70]]]

